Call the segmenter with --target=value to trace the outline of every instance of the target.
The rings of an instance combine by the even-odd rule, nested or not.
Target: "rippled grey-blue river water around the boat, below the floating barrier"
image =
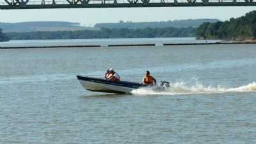
[[[0,143],[256,143],[256,45],[0,50]],[[169,90],[92,93],[113,67]]]

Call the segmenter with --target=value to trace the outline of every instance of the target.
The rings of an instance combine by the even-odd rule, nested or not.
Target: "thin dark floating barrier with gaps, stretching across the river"
[[[166,44],[109,44],[109,45],[54,45],[54,46],[24,46],[24,47],[0,47],[0,49],[41,49],[58,47],[133,47],[133,46],[168,46],[168,45],[225,45],[225,44],[256,44],[256,40],[234,42],[204,42],[204,43],[166,43]]]

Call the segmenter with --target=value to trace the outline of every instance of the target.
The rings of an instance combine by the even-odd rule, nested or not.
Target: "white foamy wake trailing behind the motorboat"
[[[222,86],[212,87],[204,86],[202,83],[196,82],[192,86],[187,86],[184,82],[170,83],[170,87],[154,86],[152,88],[140,88],[133,90],[134,95],[192,95],[200,93],[243,93],[256,92],[256,83],[249,83],[236,88],[225,88]]]

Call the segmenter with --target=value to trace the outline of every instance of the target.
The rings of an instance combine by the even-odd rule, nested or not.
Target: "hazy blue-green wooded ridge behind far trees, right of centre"
[[[187,20],[168,20],[162,22],[123,22],[119,23],[99,23],[95,24],[95,28],[109,28],[109,29],[143,29],[143,28],[196,28],[204,22],[217,22],[218,19],[187,19]]]

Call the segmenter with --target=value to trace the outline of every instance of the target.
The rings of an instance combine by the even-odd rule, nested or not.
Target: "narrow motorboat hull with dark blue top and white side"
[[[104,92],[104,93],[131,93],[132,90],[136,90],[141,87],[145,87],[141,83],[134,83],[129,81],[108,81],[106,79],[100,79],[87,76],[76,76],[82,86],[92,92]]]

